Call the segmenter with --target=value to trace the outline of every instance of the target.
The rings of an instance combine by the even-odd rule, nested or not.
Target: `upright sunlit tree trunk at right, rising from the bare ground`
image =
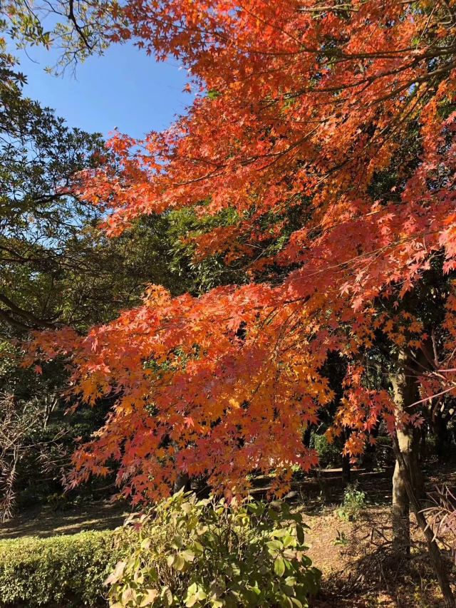
[[[397,418],[400,418],[401,413],[414,413],[413,403],[419,398],[418,383],[410,368],[413,368],[413,361],[405,351],[401,351],[398,356],[398,369],[391,377]],[[405,474],[408,472],[413,492],[421,495],[423,477],[420,473],[419,460],[420,430],[398,424],[397,443],[401,462],[396,456],[391,507],[393,542],[398,551],[410,553],[410,500]],[[401,466],[401,463],[405,466]]]

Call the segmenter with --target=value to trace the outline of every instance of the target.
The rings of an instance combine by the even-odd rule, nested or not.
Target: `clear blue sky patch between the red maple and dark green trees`
[[[192,102],[182,93],[187,74],[176,61],[157,63],[133,44],[114,45],[104,56],[90,57],[63,76],[43,71],[56,63],[56,55],[43,48],[27,53],[10,51],[21,61],[27,76],[24,95],[48,105],[68,125],[108,136],[116,126],[133,137],[162,130]],[[33,61],[32,61],[33,60]]]

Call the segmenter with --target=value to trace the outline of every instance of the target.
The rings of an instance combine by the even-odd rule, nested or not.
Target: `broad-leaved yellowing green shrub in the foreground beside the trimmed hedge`
[[[119,533],[111,607],[307,606],[320,572],[305,528],[286,503],[228,506],[181,491]]]

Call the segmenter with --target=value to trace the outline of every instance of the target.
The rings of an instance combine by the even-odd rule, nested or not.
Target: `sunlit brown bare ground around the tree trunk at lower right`
[[[427,489],[433,485],[456,485],[454,466],[428,471]],[[389,503],[390,476],[358,476],[368,504],[355,521],[341,519],[338,505],[318,509],[315,503],[306,512],[309,557],[323,572],[322,592],[315,608],[437,608],[443,599],[430,567],[424,537],[411,517],[410,557],[398,557],[391,544]],[[338,494],[337,484],[331,483]],[[340,504],[340,503],[338,503]],[[456,569],[445,554],[456,594]]]

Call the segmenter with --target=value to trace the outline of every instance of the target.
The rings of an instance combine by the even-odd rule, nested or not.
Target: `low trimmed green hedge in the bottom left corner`
[[[117,560],[110,530],[0,540],[0,606],[105,606]]]

